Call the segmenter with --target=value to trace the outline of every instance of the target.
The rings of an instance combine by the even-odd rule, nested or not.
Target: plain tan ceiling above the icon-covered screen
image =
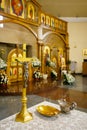
[[[59,18],[71,21],[87,20],[87,0],[37,0],[42,10]],[[72,19],[71,19],[72,18]]]

